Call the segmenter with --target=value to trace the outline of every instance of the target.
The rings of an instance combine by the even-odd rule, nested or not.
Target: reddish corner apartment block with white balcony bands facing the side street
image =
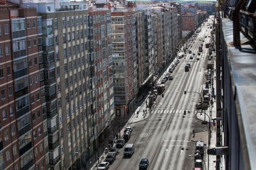
[[[133,7],[111,8],[114,104],[116,116],[129,114],[137,94],[137,49]]]

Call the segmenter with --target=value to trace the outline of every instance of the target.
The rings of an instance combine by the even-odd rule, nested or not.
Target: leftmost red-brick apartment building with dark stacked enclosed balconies
[[[47,169],[40,89],[41,17],[0,5],[0,169]]]

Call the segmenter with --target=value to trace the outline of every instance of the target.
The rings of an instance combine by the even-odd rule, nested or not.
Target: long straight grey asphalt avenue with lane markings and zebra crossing
[[[131,124],[134,129],[128,143],[135,144],[134,155],[126,158],[123,156],[124,148],[119,148],[116,160],[109,169],[139,169],[142,158],[148,158],[148,169],[194,168],[195,143],[191,141],[192,129],[205,131],[205,127],[195,121],[195,104],[200,95],[190,92],[202,91],[207,73],[208,49],[205,43],[210,42],[208,35],[210,29],[202,26],[197,38],[190,44],[186,57],[180,60],[173,71],[174,79],[165,83],[164,97],[156,99],[156,107],[145,121]],[[205,42],[200,41],[200,38]],[[196,60],[198,47],[202,43],[203,52],[198,56],[200,60]],[[193,59],[189,59],[192,55],[188,54],[189,50],[195,52]],[[184,67],[189,62],[190,71],[185,72]],[[184,95],[184,91],[188,93]],[[185,117],[184,110],[190,111]]]

